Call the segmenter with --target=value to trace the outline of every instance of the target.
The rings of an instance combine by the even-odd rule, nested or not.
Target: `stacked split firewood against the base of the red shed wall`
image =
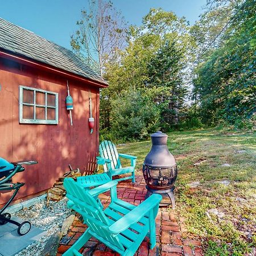
[[[66,191],[63,187],[63,181],[66,177],[71,177],[72,179],[76,180],[77,177],[81,176],[79,168],[73,170],[70,164],[68,167],[70,171],[65,172],[63,176],[59,177],[59,179],[56,180],[52,188],[48,189],[47,205],[49,204],[49,200],[59,201],[65,196]]]

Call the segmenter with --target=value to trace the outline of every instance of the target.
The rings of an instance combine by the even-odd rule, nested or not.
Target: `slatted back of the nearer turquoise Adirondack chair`
[[[64,188],[67,191],[68,199],[74,204],[72,208],[82,215],[84,222],[90,230],[103,240],[124,250],[118,237],[108,231],[110,226],[109,218],[106,217],[96,199],[89,194],[89,191],[86,191],[86,189],[82,188],[79,183],[71,178],[64,179]]]

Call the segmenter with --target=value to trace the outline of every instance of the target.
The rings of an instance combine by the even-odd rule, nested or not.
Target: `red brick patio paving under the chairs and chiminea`
[[[146,195],[145,181],[143,176],[136,177],[136,183],[133,185],[130,181],[121,181],[118,183],[118,198],[138,205],[144,200]],[[102,204],[110,203],[109,193],[100,196]],[[149,250],[149,242],[146,238],[139,247],[135,255],[139,256],[200,256],[203,255],[201,242],[189,239],[187,229],[184,225],[184,219],[177,216],[175,210],[167,208],[159,208],[156,217],[156,246],[153,250]],[[85,231],[86,225],[82,224],[76,217],[66,236],[60,241],[57,256],[62,255]],[[80,250],[83,255],[119,255],[106,247],[97,240],[91,239]]]

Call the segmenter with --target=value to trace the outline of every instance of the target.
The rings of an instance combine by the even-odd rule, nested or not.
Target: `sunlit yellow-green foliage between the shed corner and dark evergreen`
[[[134,28],[130,28],[134,34]],[[125,51],[121,52],[119,63],[107,63],[104,78],[109,88],[101,92],[101,127],[111,130],[112,101],[123,90],[143,88],[147,79],[147,63],[158,43],[151,35],[139,36],[130,40]]]

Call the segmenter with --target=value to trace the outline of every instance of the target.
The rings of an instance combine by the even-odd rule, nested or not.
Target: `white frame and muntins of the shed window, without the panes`
[[[27,103],[23,104],[23,89],[34,91],[34,104],[27,104]],[[35,104],[35,92],[46,93],[46,104],[43,105],[43,106],[46,106],[46,115],[47,115],[47,93],[55,95],[55,107],[51,106],[51,108],[55,109],[55,120],[35,119],[35,107],[42,106],[42,105]],[[57,123],[59,121],[58,102],[59,102],[58,101],[58,93],[51,92],[48,90],[42,90],[42,89],[19,85],[19,123],[36,123],[36,124],[41,124],[41,125],[57,125]],[[34,119],[24,119],[23,118],[23,105],[34,106]],[[48,108],[49,108],[49,106],[48,106]]]

